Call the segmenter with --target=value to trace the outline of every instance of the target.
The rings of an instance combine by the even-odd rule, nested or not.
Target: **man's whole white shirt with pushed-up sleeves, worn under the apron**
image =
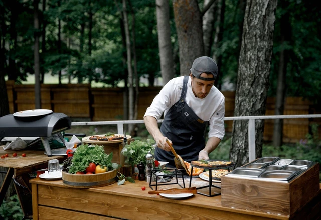
[[[180,99],[183,78],[184,76],[180,76],[170,80],[156,95],[151,105],[147,108],[144,117],[152,116],[158,120],[163,113],[166,115],[168,110]],[[210,122],[208,137],[217,137],[222,140],[225,133],[224,95],[213,86],[205,98],[197,98],[192,91],[191,81],[191,77],[189,77],[185,102],[200,119]]]

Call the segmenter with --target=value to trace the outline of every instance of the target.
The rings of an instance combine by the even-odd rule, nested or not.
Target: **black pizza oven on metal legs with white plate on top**
[[[40,137],[48,156],[52,156],[48,137],[58,134],[61,141],[65,140],[62,131],[71,128],[70,118],[63,113],[18,117],[8,114],[0,117],[0,140],[4,137]]]

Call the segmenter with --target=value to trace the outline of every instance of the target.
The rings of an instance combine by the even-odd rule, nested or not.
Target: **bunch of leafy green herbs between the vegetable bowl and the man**
[[[128,163],[132,166],[138,165],[141,162],[146,166],[146,155],[148,151],[151,153],[154,152],[155,147],[152,144],[155,143],[155,141],[151,139],[147,139],[146,141],[147,142],[135,140],[125,146],[127,150],[124,152],[124,156],[127,157]]]

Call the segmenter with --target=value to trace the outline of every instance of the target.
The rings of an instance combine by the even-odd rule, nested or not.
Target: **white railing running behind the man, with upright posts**
[[[249,161],[255,159],[255,120],[264,119],[289,119],[289,118],[321,118],[321,114],[302,114],[302,115],[271,115],[271,116],[241,116],[225,117],[224,120],[248,120],[248,138],[249,138]],[[163,120],[158,120],[162,123]],[[143,124],[143,120],[116,120],[116,121],[95,121],[95,122],[72,122],[72,126],[89,125],[117,125],[117,133],[124,134],[124,124]]]

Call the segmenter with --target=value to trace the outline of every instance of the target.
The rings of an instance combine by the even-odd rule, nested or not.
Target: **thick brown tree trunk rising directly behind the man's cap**
[[[202,14],[197,0],[173,0],[179,41],[180,75],[189,75],[193,61],[204,55]]]

